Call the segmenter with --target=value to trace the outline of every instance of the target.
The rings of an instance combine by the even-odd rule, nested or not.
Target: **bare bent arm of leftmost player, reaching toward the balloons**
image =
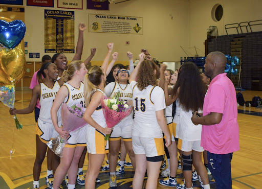
[[[32,90],[32,99],[30,101],[29,106],[27,108],[20,109],[20,110],[17,110],[16,108],[10,108],[9,113],[11,115],[32,113],[35,109],[37,99],[40,97],[40,93],[41,93],[41,85],[38,84]]]

